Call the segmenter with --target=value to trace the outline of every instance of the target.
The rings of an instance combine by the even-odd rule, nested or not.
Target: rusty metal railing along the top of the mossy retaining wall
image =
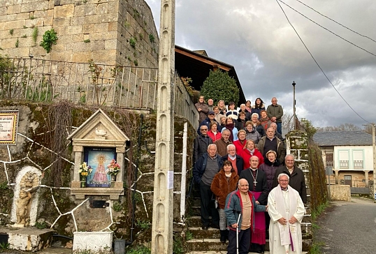
[[[0,98],[157,110],[158,69],[43,59],[2,59]],[[175,114],[198,127],[198,112],[175,73]]]

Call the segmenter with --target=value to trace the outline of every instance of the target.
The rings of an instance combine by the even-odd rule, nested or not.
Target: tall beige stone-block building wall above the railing
[[[40,43],[52,28],[58,40],[47,53]],[[159,38],[143,0],[8,0],[0,1],[0,47],[10,57],[157,67]]]

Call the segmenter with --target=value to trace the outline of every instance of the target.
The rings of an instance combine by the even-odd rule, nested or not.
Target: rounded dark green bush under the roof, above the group
[[[235,105],[238,105],[239,101],[239,89],[236,80],[222,70],[210,70],[209,77],[206,78],[203,87],[201,87],[201,95],[206,99],[212,98],[215,105],[219,100],[224,100],[225,104],[233,101]]]

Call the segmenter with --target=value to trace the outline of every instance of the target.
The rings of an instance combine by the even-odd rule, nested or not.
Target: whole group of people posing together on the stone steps
[[[201,122],[194,141],[193,176],[200,189],[202,229],[218,228],[220,241],[229,240],[228,253],[236,253],[237,246],[239,253],[263,253],[267,238],[271,253],[301,253],[305,177],[294,156],[286,155],[284,142],[276,136],[277,126],[270,126],[276,122],[270,120],[265,128],[251,111],[252,124],[238,129],[233,123],[241,120],[234,119],[231,111],[226,122],[233,120],[232,125],[225,124],[219,132],[222,126],[210,113],[206,117],[210,122]],[[259,133],[257,142],[252,131]]]

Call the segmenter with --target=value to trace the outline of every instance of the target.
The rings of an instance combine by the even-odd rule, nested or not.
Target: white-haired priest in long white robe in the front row
[[[270,253],[301,254],[304,204],[298,191],[289,186],[287,174],[279,174],[278,183],[268,196]]]

